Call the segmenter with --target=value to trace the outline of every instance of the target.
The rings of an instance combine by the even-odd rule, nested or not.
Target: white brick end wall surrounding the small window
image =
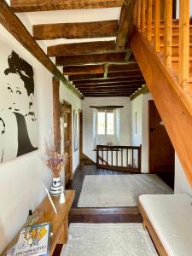
[[[130,145],[130,98],[129,97],[86,97],[83,108],[83,152],[91,160],[96,161],[94,149],[94,108],[90,106],[124,106],[119,109],[119,145]]]

